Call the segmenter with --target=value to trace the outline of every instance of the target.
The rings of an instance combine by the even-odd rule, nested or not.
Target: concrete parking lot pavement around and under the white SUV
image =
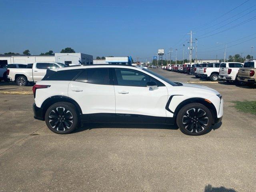
[[[256,116],[232,103],[256,100],[256,89],[153,70],[218,90],[222,124],[203,136],[152,124],[85,124],[58,135],[33,118],[32,94],[0,94],[0,191],[256,191]]]

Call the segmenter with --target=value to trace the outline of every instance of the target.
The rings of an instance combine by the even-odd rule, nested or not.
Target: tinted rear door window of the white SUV
[[[110,85],[108,68],[92,68],[83,70],[76,81],[100,85]]]

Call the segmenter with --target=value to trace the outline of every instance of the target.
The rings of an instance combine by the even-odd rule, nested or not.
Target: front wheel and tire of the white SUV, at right
[[[202,135],[210,131],[212,113],[203,104],[190,103],[180,109],[176,124],[186,135]]]

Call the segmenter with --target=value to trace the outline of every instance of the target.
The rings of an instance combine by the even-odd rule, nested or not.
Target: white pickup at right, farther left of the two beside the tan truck
[[[211,81],[217,81],[220,71],[220,63],[208,63],[206,67],[199,68],[198,76],[200,78],[210,78]]]

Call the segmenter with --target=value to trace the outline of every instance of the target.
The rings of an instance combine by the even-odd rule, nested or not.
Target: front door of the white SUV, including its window
[[[164,84],[138,70],[114,68],[116,120],[118,122],[164,123],[168,91]],[[158,89],[146,83],[155,81]]]

